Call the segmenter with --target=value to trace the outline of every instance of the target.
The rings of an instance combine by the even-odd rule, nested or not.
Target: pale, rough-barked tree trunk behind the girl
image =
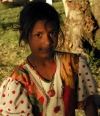
[[[96,23],[92,15],[89,0],[62,0],[65,9],[65,43],[64,50],[85,53],[83,42],[95,46],[93,32]]]

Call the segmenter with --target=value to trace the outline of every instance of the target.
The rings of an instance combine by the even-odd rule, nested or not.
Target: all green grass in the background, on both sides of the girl
[[[53,5],[64,18],[62,3],[57,2]],[[0,3],[0,82],[9,76],[11,70],[30,53],[27,46],[19,47],[18,45],[18,18],[21,9],[22,6]],[[96,40],[100,48],[100,38]],[[92,51],[89,55],[90,68],[97,83],[98,94],[100,94],[100,59],[95,59]]]

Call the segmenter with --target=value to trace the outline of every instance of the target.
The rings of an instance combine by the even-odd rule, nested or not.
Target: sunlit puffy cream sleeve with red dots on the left
[[[7,78],[0,87],[0,116],[33,116],[26,89]]]

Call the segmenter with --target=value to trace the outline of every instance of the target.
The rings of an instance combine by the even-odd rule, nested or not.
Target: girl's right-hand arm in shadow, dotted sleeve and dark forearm
[[[79,88],[79,101],[85,101],[84,110],[86,116],[98,116],[97,106],[94,101],[96,93],[95,81],[86,60],[82,57],[79,58]]]

